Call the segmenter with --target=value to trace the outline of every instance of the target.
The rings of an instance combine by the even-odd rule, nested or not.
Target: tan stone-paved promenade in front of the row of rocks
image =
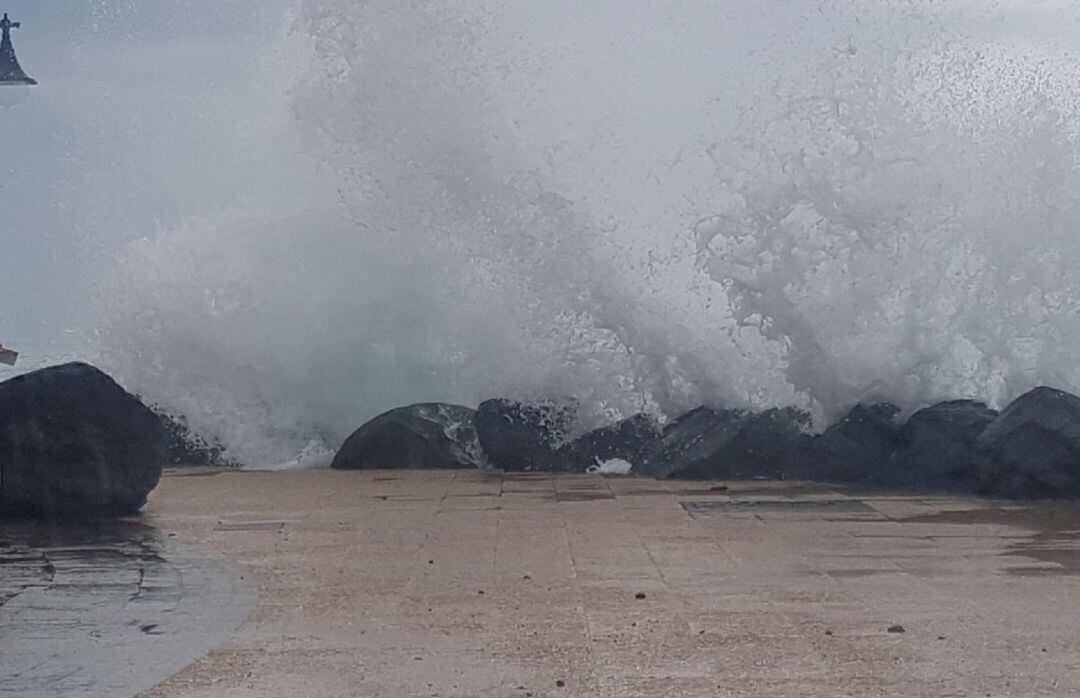
[[[1080,695],[1075,504],[180,471],[144,523],[258,596],[159,698]]]

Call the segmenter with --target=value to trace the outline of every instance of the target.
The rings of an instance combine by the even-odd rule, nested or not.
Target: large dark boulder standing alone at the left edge
[[[0,515],[138,511],[158,484],[158,415],[97,368],[70,363],[0,384]]]

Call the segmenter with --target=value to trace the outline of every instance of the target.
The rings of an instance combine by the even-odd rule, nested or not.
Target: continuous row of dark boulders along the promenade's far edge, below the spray
[[[430,415],[440,411],[453,419],[432,421]],[[1036,388],[1000,414],[980,402],[954,400],[905,420],[895,405],[860,404],[820,434],[810,433],[809,415],[794,408],[698,407],[663,428],[650,416],[635,415],[571,439],[576,412],[572,400],[489,400],[476,411],[402,407],[361,427],[334,467],[584,472],[620,459],[632,464],[634,474],[653,478],[1080,496],[1080,398],[1052,388]]]

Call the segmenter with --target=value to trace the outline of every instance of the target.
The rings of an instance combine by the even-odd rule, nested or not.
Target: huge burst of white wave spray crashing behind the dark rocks
[[[251,464],[430,400],[1076,390],[1080,10],[941,5],[298,4],[305,196],[126,249],[99,361]]]

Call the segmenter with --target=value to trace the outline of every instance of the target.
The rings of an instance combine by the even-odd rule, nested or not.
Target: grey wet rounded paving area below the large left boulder
[[[0,696],[134,696],[218,645],[254,596],[131,522],[0,522]]]

